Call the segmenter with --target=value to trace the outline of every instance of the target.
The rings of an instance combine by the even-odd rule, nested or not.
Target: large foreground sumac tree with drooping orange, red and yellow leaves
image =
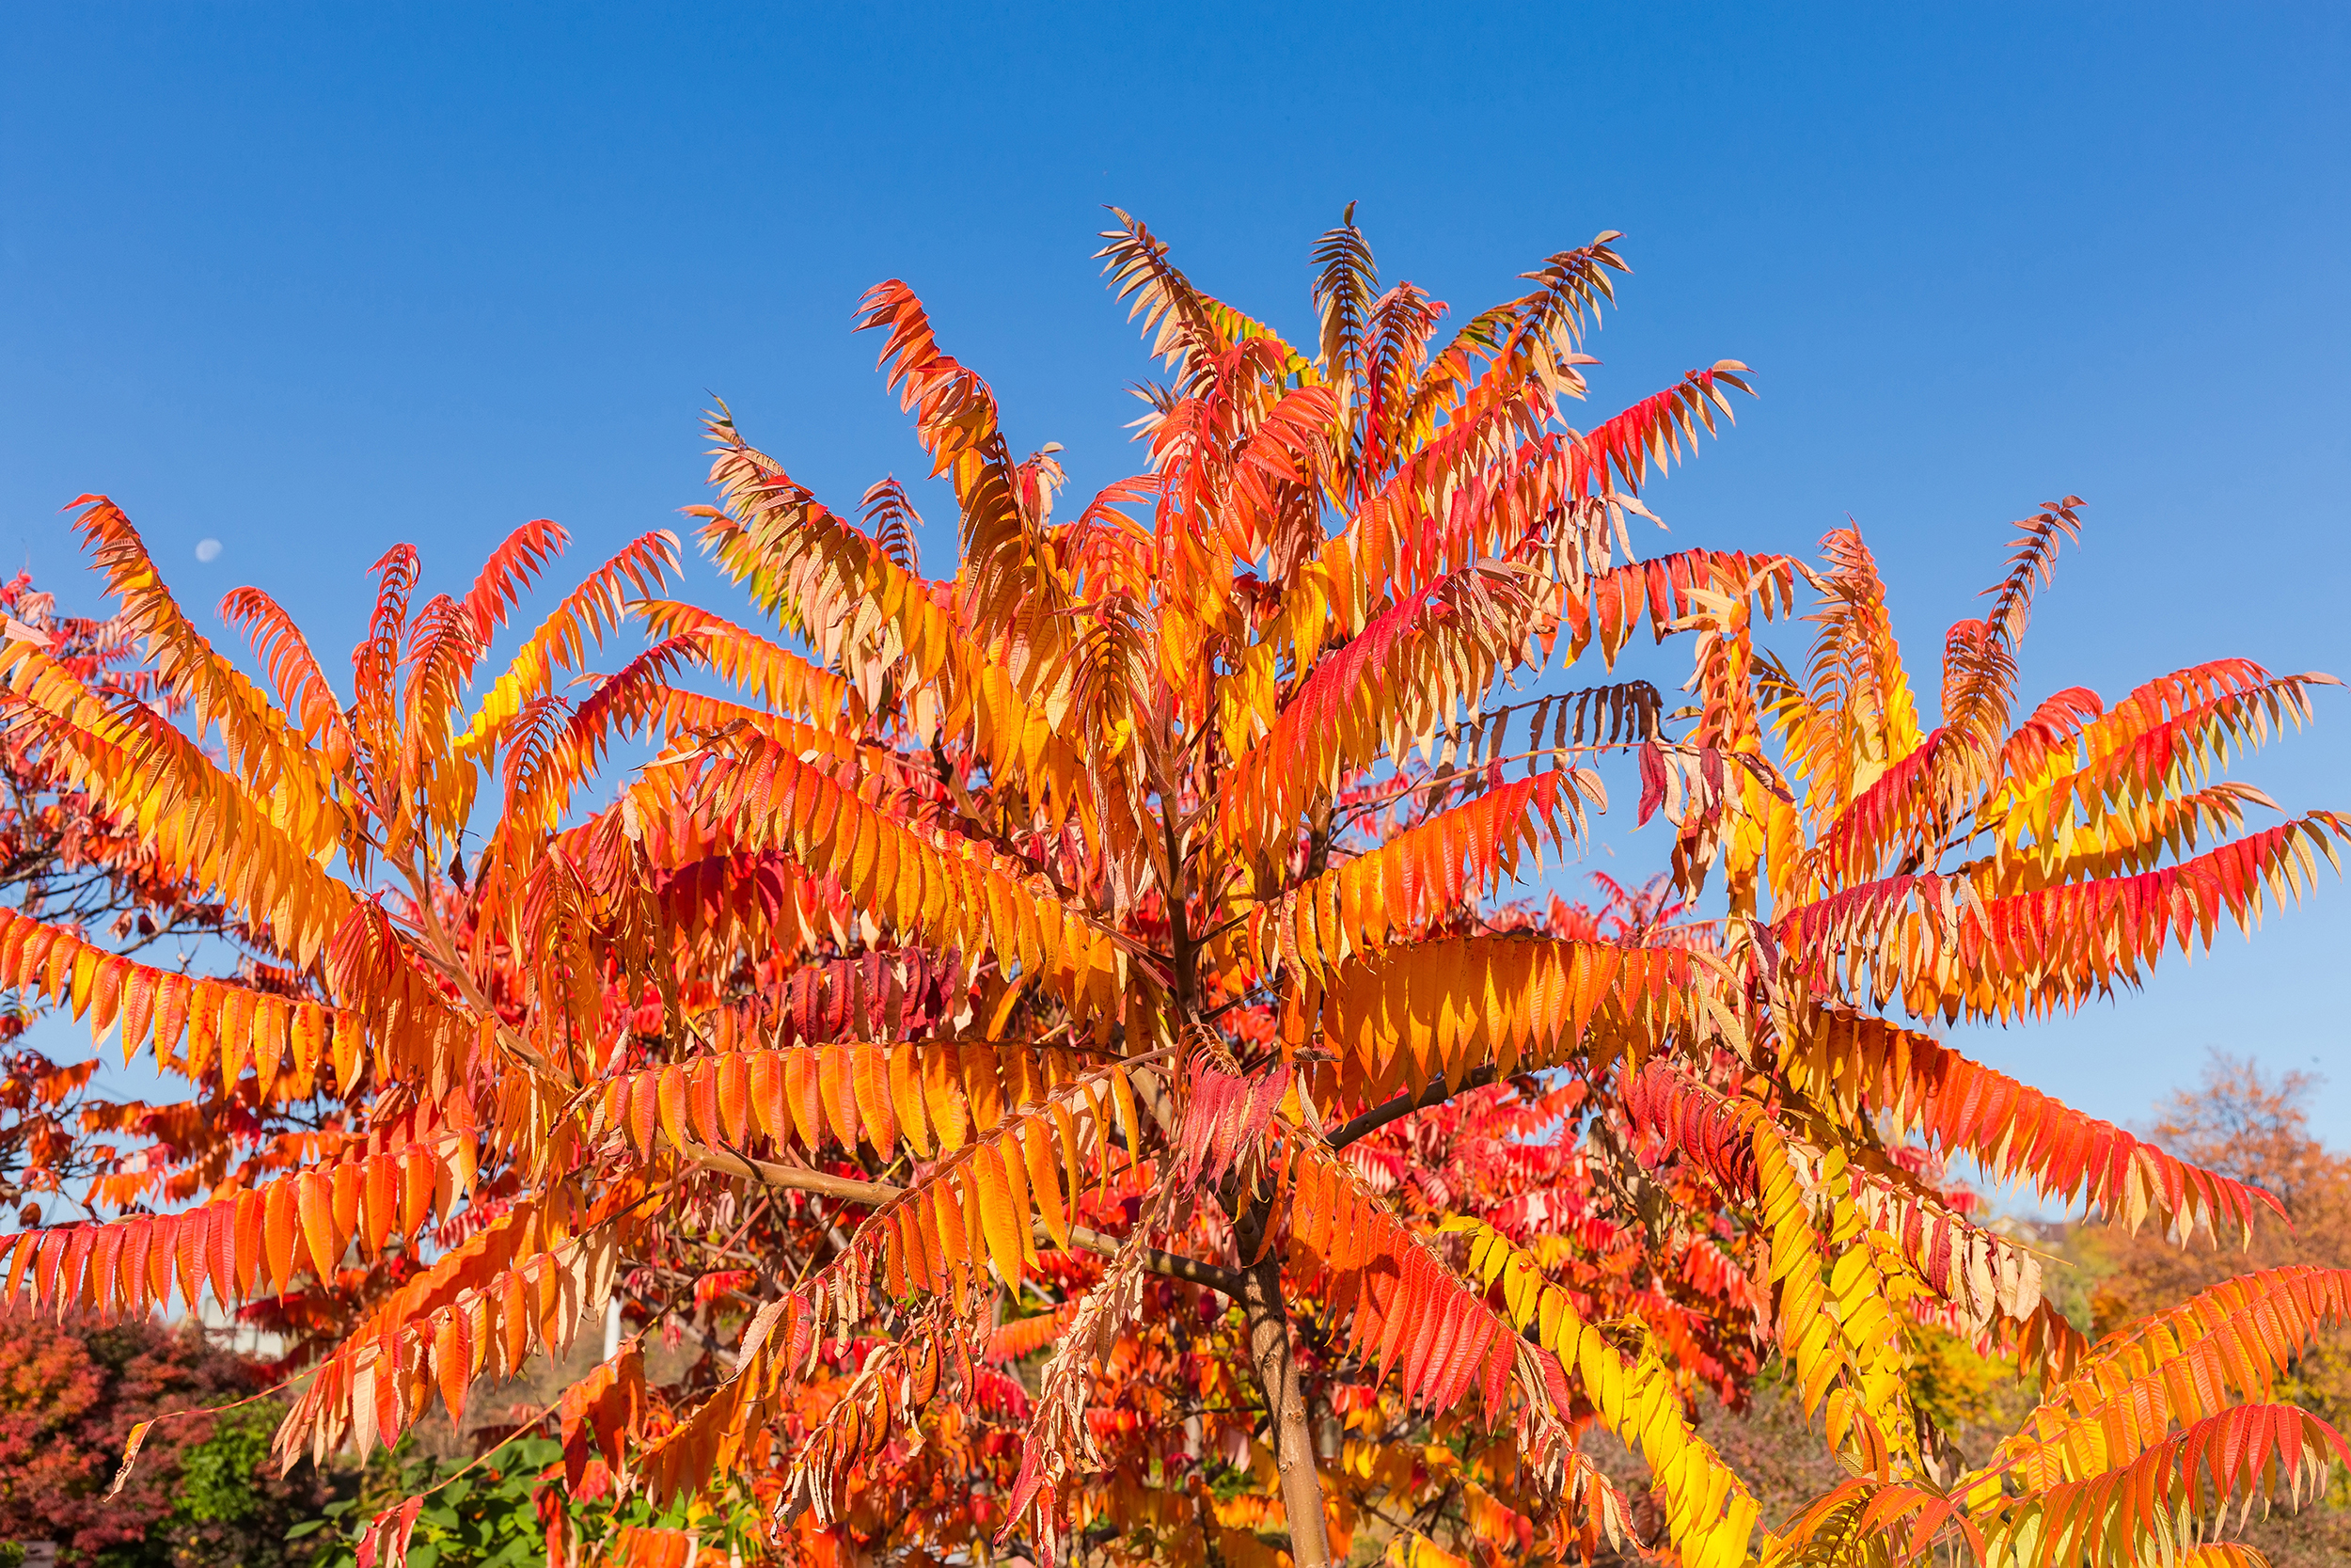
[[[1947,635],[1935,729],[1855,531],[1817,567],[1629,559],[1643,487],[1747,386],[1726,360],[1568,423],[1613,244],[1446,331],[1349,214],[1300,348],[1121,214],[1103,259],[1166,378],[1143,473],[1074,515],[1056,449],[1016,458],[882,284],[863,327],[959,557],[922,576],[905,487],[844,517],[722,409],[691,510],[766,630],[665,597],[656,534],[494,675],[562,545],[538,522],[463,595],[388,552],[348,696],[240,590],[273,698],[87,503],[190,719],[33,642],[12,719],[292,980],[38,919],[0,980],[197,1105],[329,1110],[282,1171],[12,1237],[7,1291],[266,1298],[289,1462],[463,1410],[621,1293],[696,1359],[649,1382],[630,1338],[550,1420],[595,1544],[639,1561],[1589,1556],[1634,1516],[1594,1425],[1693,1568],[2135,1563],[2306,1490],[2342,1439],[2273,1382],[2351,1274],[2243,1274],[2083,1345],[1940,1159],[2182,1244],[2273,1199],[1925,1025],[2083,1006],[2304,889],[2342,823],[2248,832],[2259,797],[2210,773],[2323,677],[2222,661],[2020,712],[2071,498]],[[1801,672],[1756,642],[1799,597]],[[623,628],[649,644],[588,677]],[[1683,639],[1688,708],[1563,684],[1636,632]],[[651,759],[611,769],[623,741]],[[1603,766],[1712,917],[1528,905]],[[1996,1453],[1921,1418],[1918,1324],[2045,1380]],[[1763,1354],[1850,1476],[1791,1521],[1690,1420]],[[576,1528],[555,1509],[550,1552]]]

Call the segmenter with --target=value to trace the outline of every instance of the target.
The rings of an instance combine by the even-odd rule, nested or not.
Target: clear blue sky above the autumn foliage
[[[92,609],[56,508],[108,491],[190,604],[261,583],[346,646],[395,538],[440,588],[527,517],[581,555],[672,524],[712,393],[851,505],[919,473],[849,334],[882,277],[1091,489],[1136,465],[1147,374],[1100,207],[1307,331],[1305,252],[1357,200],[1382,273],[1458,310],[1625,230],[1594,416],[1754,367],[1653,548],[1853,515],[1930,665],[2008,520],[2078,491],[2031,696],[2222,654],[2351,675],[2346,82],[2344,7],[12,5],[0,564]],[[2346,764],[2325,693],[2241,776],[2342,809]],[[1965,1044],[2116,1119],[2215,1044],[2316,1067],[2351,1143],[2346,945],[2327,882],[2252,947]]]

